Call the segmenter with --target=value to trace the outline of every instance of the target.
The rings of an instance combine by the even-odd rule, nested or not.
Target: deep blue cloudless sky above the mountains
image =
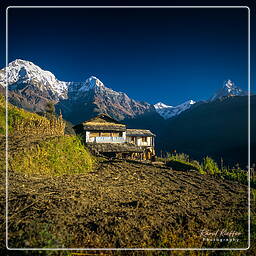
[[[63,81],[94,75],[136,100],[177,105],[227,79],[248,86],[247,9],[10,9],[8,30],[9,61]]]

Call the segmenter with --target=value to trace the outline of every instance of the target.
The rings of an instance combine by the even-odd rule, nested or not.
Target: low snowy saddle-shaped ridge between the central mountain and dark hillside
[[[162,102],[159,102],[154,105],[156,112],[162,116],[164,119],[169,119],[171,117],[179,115],[181,112],[189,109],[196,102],[193,100],[188,100],[180,105],[175,107],[168,106]]]

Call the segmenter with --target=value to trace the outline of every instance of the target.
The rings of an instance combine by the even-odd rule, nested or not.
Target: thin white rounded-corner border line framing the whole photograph
[[[248,10],[248,240],[247,244],[248,247],[246,248],[10,248],[8,246],[8,76],[6,72],[6,248],[8,250],[17,250],[17,251],[34,251],[34,250],[40,250],[40,251],[72,251],[72,250],[82,250],[82,251],[121,251],[121,250],[137,250],[137,251],[238,251],[238,250],[248,250],[250,248],[250,171],[251,171],[251,158],[250,158],[250,115],[251,115],[251,103],[250,103],[250,93],[251,93],[251,86],[250,86],[250,76],[251,76],[251,62],[250,62],[250,54],[251,54],[251,48],[250,48],[250,8],[248,6],[8,6],[6,8],[6,70],[8,70],[8,10],[9,9],[20,9],[20,8],[31,8],[31,9],[37,9],[37,8],[55,8],[55,9],[61,9],[61,8],[107,8],[107,9],[123,9],[123,8],[140,8],[140,9],[148,9],[148,8],[155,8],[155,9],[163,9],[163,8],[179,8],[179,9],[185,9],[185,8],[242,8]]]

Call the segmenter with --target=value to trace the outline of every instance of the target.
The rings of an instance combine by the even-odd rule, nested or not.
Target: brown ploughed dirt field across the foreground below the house
[[[246,186],[133,161],[101,159],[93,172],[55,177],[10,170],[8,193],[13,248],[234,247],[201,232],[246,225]]]

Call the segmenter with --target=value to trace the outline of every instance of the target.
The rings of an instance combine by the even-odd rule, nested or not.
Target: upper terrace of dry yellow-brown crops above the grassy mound
[[[0,95],[0,134],[5,134],[5,98]],[[65,123],[57,117],[46,117],[8,104],[9,135],[63,135]]]

